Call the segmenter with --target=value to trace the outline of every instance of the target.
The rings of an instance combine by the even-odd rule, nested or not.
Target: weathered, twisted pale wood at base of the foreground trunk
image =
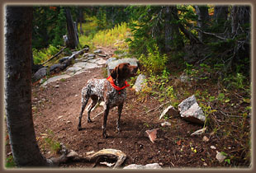
[[[121,152],[120,150],[116,149],[102,149],[98,152],[90,152],[85,157],[79,155],[77,152],[74,152],[73,150],[69,150],[67,147],[64,146],[63,143],[60,143],[60,153],[62,154],[59,158],[50,158],[48,159],[48,162],[51,163],[52,166],[59,166],[59,164],[66,163],[68,161],[88,161],[92,162],[95,161],[95,165],[97,164],[97,161],[99,161],[101,158],[107,158],[109,160],[116,160],[115,165],[113,166],[113,169],[118,168],[121,166],[121,164],[126,160],[126,154],[124,152]]]

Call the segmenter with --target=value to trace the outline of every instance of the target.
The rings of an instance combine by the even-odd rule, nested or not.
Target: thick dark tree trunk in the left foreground
[[[46,166],[31,111],[32,7],[7,7],[5,32],[5,110],[17,166]]]

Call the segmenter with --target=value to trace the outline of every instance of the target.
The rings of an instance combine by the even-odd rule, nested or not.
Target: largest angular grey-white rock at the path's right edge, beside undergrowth
[[[204,124],[206,116],[197,104],[196,97],[190,96],[178,105],[178,110],[183,119],[197,124]]]

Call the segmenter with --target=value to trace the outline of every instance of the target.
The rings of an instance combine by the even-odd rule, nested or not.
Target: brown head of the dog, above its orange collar
[[[114,79],[126,79],[135,77],[138,67],[131,66],[130,63],[120,63],[111,72],[111,77]]]

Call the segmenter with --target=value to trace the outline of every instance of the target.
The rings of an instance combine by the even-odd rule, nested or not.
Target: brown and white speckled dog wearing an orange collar
[[[107,115],[109,110],[115,106],[118,106],[118,119],[116,121],[116,129],[119,133],[121,111],[123,109],[124,102],[126,101],[126,87],[129,86],[126,79],[129,77],[135,77],[138,67],[131,66],[130,63],[121,63],[116,66],[111,72],[111,75],[107,79],[90,79],[86,86],[82,89],[82,106],[78,121],[78,130],[81,130],[81,119],[83,116],[83,110],[85,109],[88,100],[92,99],[92,104],[88,109],[88,123],[92,122],[90,119],[90,113],[92,108],[98,101],[103,101],[104,115],[102,124],[102,136],[107,138],[106,125]]]

